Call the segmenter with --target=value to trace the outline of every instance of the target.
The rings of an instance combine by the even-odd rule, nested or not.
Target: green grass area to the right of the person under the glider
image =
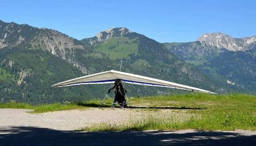
[[[169,101],[169,102],[168,102]],[[170,102],[171,101],[171,102]],[[130,119],[128,124],[95,124],[82,131],[125,130],[256,130],[256,96],[245,94],[208,95],[186,94],[135,98],[131,103],[151,103],[150,106],[203,107],[206,110],[190,110],[195,116],[177,122],[175,117],[144,116]],[[179,111],[177,111],[179,112]],[[199,116],[197,116],[199,115]]]

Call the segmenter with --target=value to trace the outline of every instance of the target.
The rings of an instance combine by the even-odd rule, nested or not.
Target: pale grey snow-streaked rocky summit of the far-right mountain
[[[206,33],[197,39],[201,43],[215,46],[219,49],[225,48],[230,51],[246,51],[252,43],[256,43],[256,36],[246,38],[232,38],[221,32]]]

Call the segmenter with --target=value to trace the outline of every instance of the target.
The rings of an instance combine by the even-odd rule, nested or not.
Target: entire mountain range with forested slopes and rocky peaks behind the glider
[[[195,42],[159,43],[124,27],[77,40],[56,30],[0,20],[0,99],[38,104],[99,98],[110,85],[50,86],[118,70],[121,60],[124,72],[218,93],[255,93],[255,46],[255,37],[221,33],[205,34]],[[129,96],[184,92],[126,86]]]

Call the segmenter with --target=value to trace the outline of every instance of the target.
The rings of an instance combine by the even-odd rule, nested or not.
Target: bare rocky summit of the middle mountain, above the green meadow
[[[131,32],[132,31],[130,31],[128,28],[125,28],[125,27],[110,28],[105,31],[99,32],[97,35],[95,35],[95,37],[85,38],[85,39],[82,39],[81,41],[86,45],[92,46],[94,43],[105,41],[113,37],[120,37]]]

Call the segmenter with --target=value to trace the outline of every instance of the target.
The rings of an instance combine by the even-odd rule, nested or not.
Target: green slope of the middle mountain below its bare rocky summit
[[[84,40],[89,39],[83,39],[82,41],[84,42]],[[178,82],[221,93],[227,91],[227,88],[217,86],[218,84],[215,81],[204,76],[204,74],[200,73],[191,65],[184,63],[181,59],[174,56],[165,45],[147,38],[144,35],[129,32],[119,37],[110,37],[101,40],[102,41],[91,44],[95,51],[105,53],[106,56],[109,56],[112,60],[123,58],[123,60],[128,61],[129,64],[136,66],[123,66],[122,70],[125,72],[151,76],[154,78],[157,77],[163,80]],[[124,45],[126,48],[124,48]],[[134,50],[137,46],[138,52]],[[117,50],[124,50],[124,53],[119,55]],[[137,92],[138,90],[141,89],[137,89]],[[166,93],[166,89],[157,89],[157,91],[154,92]]]

